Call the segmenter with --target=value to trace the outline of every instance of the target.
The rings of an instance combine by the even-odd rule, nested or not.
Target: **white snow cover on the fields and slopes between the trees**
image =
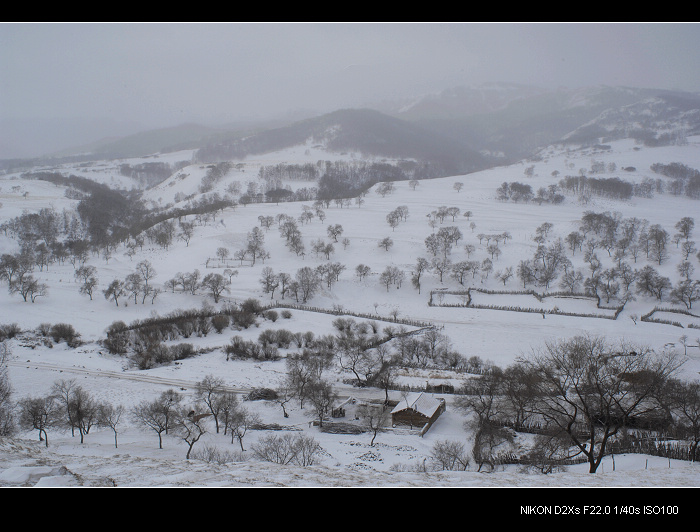
[[[687,361],[683,366],[683,376],[697,379],[700,374],[700,332],[688,328],[689,324],[700,327],[700,318],[684,316],[684,328],[672,325],[648,323],[633,320],[631,316],[642,316],[651,311],[656,302],[652,298],[638,296],[625,306],[617,319],[595,317],[574,317],[562,314],[524,313],[484,308],[459,308],[428,306],[431,290],[460,290],[459,285],[446,275],[440,282],[432,272],[424,274],[420,293],[411,285],[409,271],[418,257],[428,257],[424,240],[442,226],[457,226],[463,239],[452,252],[452,262],[467,259],[465,244],[475,246],[470,260],[482,261],[489,254],[486,243],[479,242],[479,234],[502,234],[508,232],[511,239],[500,245],[501,255],[493,260],[494,273],[487,279],[476,276],[469,283],[476,288],[488,290],[518,290],[522,284],[516,276],[507,286],[496,279],[495,272],[507,267],[515,270],[520,260],[530,259],[537,244],[533,241],[537,228],[544,222],[552,224],[548,239],[564,238],[578,228],[578,222],[586,211],[598,213],[615,212],[623,218],[646,219],[650,224],[660,224],[669,233],[682,217],[693,217],[700,221],[700,203],[685,197],[656,195],[653,198],[634,197],[629,201],[614,201],[593,197],[588,204],[580,204],[574,197],[567,197],[561,205],[499,202],[495,199],[498,186],[503,182],[518,181],[530,184],[533,190],[556,184],[565,175],[576,175],[580,168],[589,168],[591,162],[614,162],[617,168],[635,167],[636,171],[621,172],[619,175],[631,181],[645,177],[656,178],[649,169],[653,163],[682,162],[693,168],[700,167],[700,138],[689,139],[687,145],[645,148],[631,141],[613,144],[610,151],[591,152],[588,150],[563,152],[552,148],[543,153],[542,160],[523,162],[519,165],[494,168],[487,171],[448,178],[420,181],[415,190],[408,182],[395,183],[391,194],[382,196],[371,190],[360,206],[351,203],[339,207],[331,204],[324,209],[325,220],[313,218],[309,223],[299,224],[306,245],[306,256],[301,258],[292,253],[280,236],[276,225],[265,231],[265,248],[270,257],[255,266],[234,266],[238,275],[233,278],[231,292],[225,294],[225,301],[241,302],[249,297],[259,298],[263,303],[270,301],[260,285],[261,270],[272,268],[276,273],[294,275],[302,266],[315,267],[326,258],[316,256],[310,249],[312,241],[330,241],[326,228],[340,224],[341,238],[349,244],[344,247],[335,244],[331,261],[346,265],[339,281],[330,290],[322,290],[309,305],[325,309],[342,309],[352,313],[373,314],[382,326],[392,325],[392,313],[399,318],[430,322],[444,327],[455,350],[465,358],[480,359],[506,367],[519,356],[526,356],[541,347],[544,342],[555,339],[590,333],[604,336],[609,341],[624,339],[636,344],[648,345],[657,350],[673,349],[680,353],[684,347],[679,343],[682,335],[688,337]],[[189,153],[163,156],[162,160],[182,161],[191,157]],[[220,183],[223,191],[231,180],[243,185],[254,181],[261,164],[304,163],[318,160],[333,160],[335,156],[310,149],[290,150],[270,154],[260,160],[245,160],[238,169]],[[525,169],[534,165],[532,177],[525,176]],[[117,172],[117,164],[95,166],[89,176],[96,181],[114,185],[124,183]],[[62,168],[65,174],[87,175],[84,169]],[[145,196],[153,202],[165,205],[173,202],[177,192],[192,194],[197,190],[199,179],[204,175],[200,165],[192,165],[180,170],[177,179],[173,178],[149,190]],[[553,172],[558,176],[553,177]],[[82,173],[81,173],[82,172]],[[464,187],[457,191],[454,184]],[[172,183],[172,185],[170,184]],[[128,185],[128,184],[127,184]],[[311,186],[305,183],[302,186]],[[299,186],[297,183],[293,186]],[[126,188],[129,188],[128,186]],[[52,206],[57,211],[75,208],[77,201],[64,196],[64,190],[42,181],[26,181],[17,175],[0,177],[0,222],[14,218],[24,211],[34,211]],[[123,254],[123,249],[113,254],[109,261],[91,257],[90,264],[98,271],[99,290],[93,300],[79,293],[73,277],[73,266],[52,264],[48,270],[35,271],[35,277],[45,282],[48,295],[35,303],[24,302],[18,295],[0,291],[0,323],[17,323],[23,330],[31,330],[42,323],[70,323],[81,334],[84,345],[70,349],[64,343],[52,348],[36,346],[26,340],[14,339],[9,342],[12,359],[9,374],[14,395],[38,396],[49,391],[59,379],[75,379],[78,384],[91,392],[97,399],[127,408],[145,399],[153,399],[161,392],[173,388],[185,397],[190,397],[194,384],[207,375],[216,375],[231,386],[247,390],[253,387],[274,387],[284,378],[284,361],[279,362],[230,362],[226,361],[221,349],[233,335],[256,339],[267,328],[285,328],[292,332],[313,331],[315,334],[331,334],[334,316],[322,313],[292,310],[292,317],[276,322],[260,320],[257,327],[245,331],[224,330],[221,334],[209,333],[206,337],[189,338],[187,342],[197,348],[208,347],[205,354],[187,359],[181,363],[151,370],[137,370],[127,367],[124,358],[108,354],[97,343],[104,337],[105,329],[114,321],[130,323],[137,319],[154,315],[166,315],[177,309],[201,308],[214,305],[205,292],[197,295],[171,293],[164,289],[153,304],[124,305],[106,300],[103,290],[114,278],[123,279],[131,273],[141,260],[152,263],[157,273],[153,283],[164,283],[178,272],[199,269],[203,275],[222,269],[207,268],[207,259],[215,257],[219,247],[226,247],[231,255],[245,245],[246,235],[254,227],[259,227],[259,216],[277,216],[285,213],[298,218],[303,206],[311,202],[250,204],[227,209],[217,215],[216,220],[196,227],[189,245],[174,241],[163,251],[157,246],[144,246],[132,258]],[[398,206],[408,208],[408,219],[392,229],[386,216]],[[442,224],[431,228],[428,216],[441,206],[458,207],[460,215],[452,221],[446,218]],[[471,211],[469,218],[463,216]],[[472,227],[471,224],[474,224]],[[695,233],[700,229],[696,227]],[[389,237],[393,246],[389,250],[379,247],[379,242]],[[0,253],[13,252],[15,242],[0,236]],[[676,265],[680,251],[675,245],[669,246],[670,258],[660,267],[659,272],[668,276],[675,284],[678,274]],[[577,266],[582,264],[583,253],[570,256]],[[612,259],[607,253],[598,250],[598,256],[606,267]],[[696,270],[700,270],[697,259],[692,256]],[[646,259],[640,259],[641,267]],[[363,280],[355,276],[355,267],[365,264],[371,274]],[[396,266],[406,272],[403,285],[397,289],[386,289],[379,281],[379,275],[388,266]],[[697,275],[696,275],[697,277]],[[557,283],[558,284],[558,283]],[[552,291],[560,290],[555,287]],[[277,298],[278,295],[275,295]],[[531,303],[518,299],[502,301],[507,296],[486,296],[495,298],[480,300],[485,305],[526,306]],[[535,303],[536,299],[531,298]],[[225,302],[224,301],[224,302]],[[289,296],[280,302],[292,303]],[[547,300],[545,300],[547,301]],[[219,305],[224,304],[219,303]],[[550,303],[547,302],[547,305]],[[567,300],[554,303],[561,310],[582,313],[591,311],[589,300]],[[216,305],[214,305],[216,306]],[[595,306],[595,305],[593,305]],[[611,305],[612,306],[612,305]],[[664,307],[671,307],[664,302]],[[680,308],[680,307],[677,307]],[[597,309],[596,309],[597,310]],[[359,318],[358,318],[359,319]],[[394,324],[395,325],[395,324]],[[338,372],[334,385],[343,397],[381,398],[381,390],[358,390],[344,385],[347,377]],[[406,382],[431,384],[460,382],[459,375],[447,372],[408,372],[402,376]],[[361,394],[361,395],[360,395]],[[398,399],[398,395],[394,396]],[[451,487],[495,487],[495,486],[700,486],[700,468],[697,464],[669,461],[644,455],[628,455],[607,460],[596,474],[587,473],[587,466],[571,466],[566,471],[542,475],[510,466],[499,468],[493,473],[484,474],[476,467],[465,472],[419,472],[421,465],[429,459],[432,446],[441,440],[467,441],[464,416],[450,408],[451,398],[446,396],[447,411],[439,421],[423,436],[415,433],[387,430],[377,436],[370,446],[371,434],[357,436],[334,435],[320,432],[311,425],[312,414],[290,404],[290,417],[284,418],[282,409],[275,403],[247,401],[246,408],[259,413],[266,423],[293,426],[312,435],[323,447],[321,464],[311,467],[277,466],[261,463],[253,458],[242,462],[216,465],[197,459],[185,459],[186,446],[175,437],[166,437],[164,448],[158,448],[158,439],[152,431],[145,432],[126,423],[119,433],[118,448],[115,448],[111,430],[93,430],[85,443],[71,437],[70,433],[49,431],[49,447],[38,441],[36,433],[24,433],[12,441],[0,442],[0,485],[117,485],[117,486],[451,486]],[[265,431],[254,431],[246,436],[246,447],[261,437]],[[525,436],[523,443],[525,443]],[[235,450],[237,443],[231,444],[230,437],[216,434],[211,430],[205,441],[195,449],[217,446]]]

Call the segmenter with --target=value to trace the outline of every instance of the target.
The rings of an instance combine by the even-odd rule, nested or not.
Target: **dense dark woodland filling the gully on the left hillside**
[[[93,268],[86,267],[90,253],[109,262],[122,244],[129,258],[143,249],[146,242],[168,249],[175,238],[180,238],[189,245],[195,223],[182,218],[194,214],[197,221],[206,223],[216,211],[230,205],[215,195],[203,196],[191,202],[190,207],[149,217],[138,200],[84,178],[64,178],[59,174],[40,174],[38,178],[75,186],[87,195],[79,196],[81,201],[74,211],[42,208],[38,212],[23,213],[0,226],[5,236],[18,242],[20,249],[2,256],[0,278],[7,281],[11,293],[32,302],[48,294],[47,285],[33,275],[36,268],[44,271],[54,263],[69,261],[76,270],[81,269],[80,273],[76,272],[81,292],[92,297],[97,277]],[[256,248],[255,251],[253,260],[264,255],[264,250]],[[109,290],[117,294],[117,299],[124,295],[120,293],[119,282],[110,285]],[[114,299],[111,295],[110,298]]]

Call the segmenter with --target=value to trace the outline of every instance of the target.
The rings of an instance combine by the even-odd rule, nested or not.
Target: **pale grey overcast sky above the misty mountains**
[[[700,25],[0,24],[0,119],[223,123],[490,81],[700,92]]]

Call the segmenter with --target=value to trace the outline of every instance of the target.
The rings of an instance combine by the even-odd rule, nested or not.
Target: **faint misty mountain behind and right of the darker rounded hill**
[[[654,142],[663,141],[669,131],[676,136],[697,134],[700,94],[606,86],[546,91],[491,85],[426,97],[397,110],[396,116],[514,162],[559,142],[586,144],[601,138]]]

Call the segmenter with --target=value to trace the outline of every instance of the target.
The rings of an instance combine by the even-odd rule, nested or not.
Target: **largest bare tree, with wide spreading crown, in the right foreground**
[[[680,366],[673,354],[577,336],[548,342],[526,361],[538,375],[534,412],[565,432],[595,473],[610,438],[637,418],[654,414],[653,398]]]

